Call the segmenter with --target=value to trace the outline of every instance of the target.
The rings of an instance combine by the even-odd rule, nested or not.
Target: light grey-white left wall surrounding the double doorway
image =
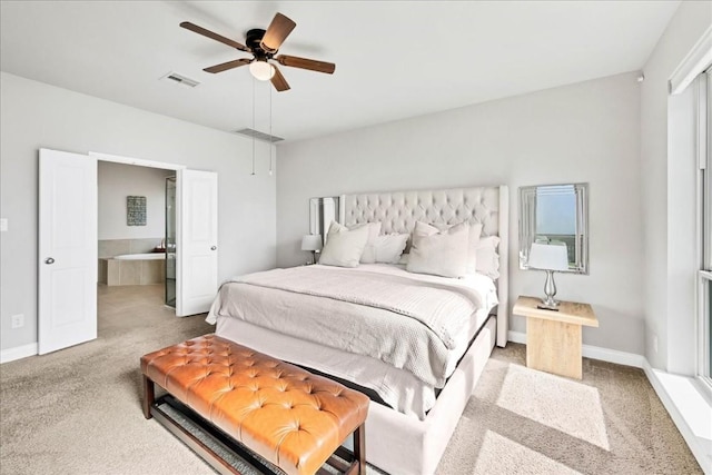
[[[251,141],[0,73],[0,349],[37,342],[37,196],[40,147],[185,165],[218,172],[219,279],[275,264],[275,177],[268,146],[251,171]],[[275,174],[276,175],[276,174]],[[10,317],[26,315],[22,328]]]

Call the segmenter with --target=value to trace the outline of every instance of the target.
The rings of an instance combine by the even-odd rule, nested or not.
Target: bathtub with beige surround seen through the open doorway
[[[166,281],[164,253],[122,254],[99,258],[99,284],[150,285]]]

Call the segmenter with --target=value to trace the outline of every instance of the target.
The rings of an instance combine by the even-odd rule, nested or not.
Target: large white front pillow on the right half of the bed
[[[469,226],[461,222],[447,229],[425,222],[416,222],[413,230],[413,247],[406,270],[444,277],[463,277],[467,271],[467,245]]]

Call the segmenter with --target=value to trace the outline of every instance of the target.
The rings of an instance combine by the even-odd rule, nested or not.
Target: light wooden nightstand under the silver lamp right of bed
[[[512,313],[526,317],[526,366],[582,378],[581,327],[597,327],[589,304],[562,301],[558,311],[536,308],[536,297],[520,297]]]

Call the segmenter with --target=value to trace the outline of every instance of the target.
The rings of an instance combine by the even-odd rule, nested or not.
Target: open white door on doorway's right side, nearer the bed
[[[218,289],[218,176],[178,170],[176,315],[210,309]]]

